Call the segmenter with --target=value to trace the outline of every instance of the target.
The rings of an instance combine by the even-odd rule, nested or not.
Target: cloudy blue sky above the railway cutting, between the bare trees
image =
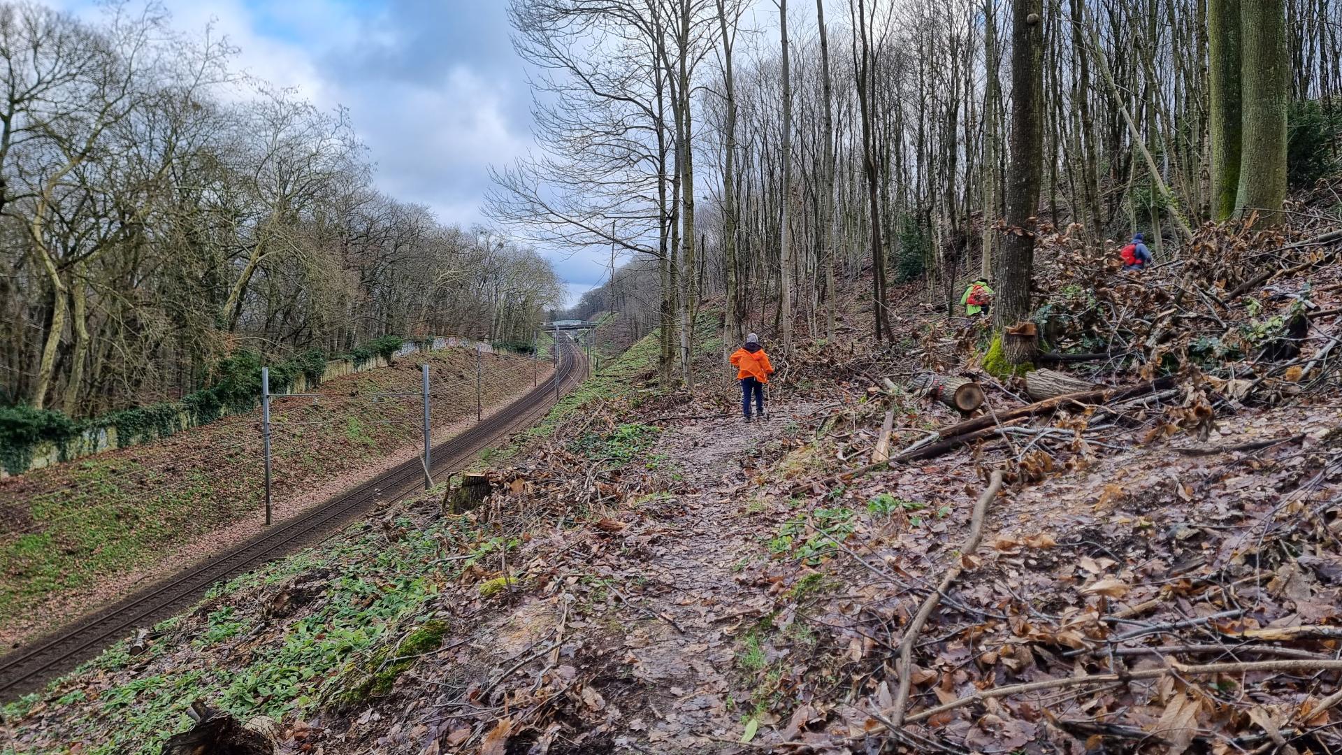
[[[48,0],[99,15],[93,0]],[[506,0],[164,0],[173,26],[213,23],[235,67],[345,106],[386,193],[439,218],[483,222],[488,165],[523,154],[531,95],[509,39]],[[570,297],[604,275],[600,255],[542,250]]]

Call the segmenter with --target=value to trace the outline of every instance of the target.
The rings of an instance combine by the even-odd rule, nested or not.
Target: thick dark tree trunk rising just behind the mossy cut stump
[[[1029,317],[1035,266],[1035,212],[1043,173],[1041,0],[1012,0],[1012,129],[1007,226],[998,275],[997,328]],[[1004,344],[1005,345],[1005,344]]]

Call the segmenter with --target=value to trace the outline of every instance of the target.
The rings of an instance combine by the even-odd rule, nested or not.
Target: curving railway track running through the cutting
[[[586,361],[582,349],[572,341],[557,345],[562,347],[560,392],[568,392],[581,382]],[[494,416],[433,446],[433,477],[440,478],[459,469],[499,437],[531,425],[549,411],[554,396],[552,378]],[[102,652],[127,631],[152,626],[174,614],[195,602],[215,582],[318,543],[340,527],[366,515],[377,504],[405,498],[421,490],[423,485],[423,458],[416,457],[305,515],[276,524],[225,553],[188,567],[119,603],[0,657],[0,701],[39,689],[48,678]]]

